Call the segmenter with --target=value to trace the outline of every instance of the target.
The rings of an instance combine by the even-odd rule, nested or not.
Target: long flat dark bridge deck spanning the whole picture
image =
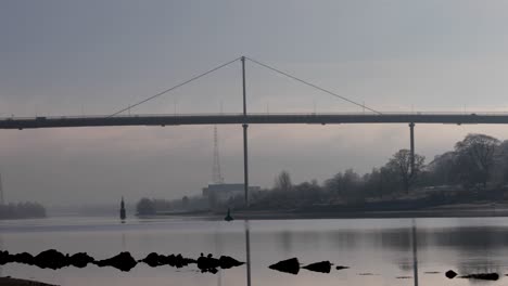
[[[506,125],[508,113],[408,113],[408,114],[220,114],[51,116],[0,118],[0,129],[74,128],[107,126],[185,125],[334,125],[334,123],[445,123]]]

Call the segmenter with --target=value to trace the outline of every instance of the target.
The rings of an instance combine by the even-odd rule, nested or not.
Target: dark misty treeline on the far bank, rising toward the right
[[[305,209],[333,206],[412,206],[499,200],[508,193],[508,141],[485,134],[468,134],[454,148],[429,164],[409,150],[399,150],[379,168],[359,174],[353,169],[318,183],[293,184],[282,171],[269,190],[250,193],[251,209]],[[384,204],[384,205],[383,205]],[[243,196],[217,202],[215,211],[244,208]],[[177,200],[148,199],[138,203],[139,213],[209,209],[203,197]]]

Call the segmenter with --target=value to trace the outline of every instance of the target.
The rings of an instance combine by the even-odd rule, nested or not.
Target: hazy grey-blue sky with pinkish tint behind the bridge
[[[0,117],[109,115],[245,55],[380,112],[508,112],[508,2],[472,0],[3,0]],[[364,112],[246,63],[251,113]],[[236,62],[131,114],[240,113]],[[223,177],[242,182],[242,128],[219,126]],[[504,126],[417,125],[429,162],[468,133]],[[249,128],[250,177],[269,187],[353,168],[409,146],[406,125]],[[8,202],[136,203],[199,195],[213,127],[0,131]]]

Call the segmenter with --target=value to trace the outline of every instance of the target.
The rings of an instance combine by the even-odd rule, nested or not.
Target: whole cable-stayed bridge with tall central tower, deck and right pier
[[[238,114],[173,114],[173,115],[130,115],[130,109],[145,102],[152,101],[164,94],[191,83],[202,77],[207,76],[225,66],[236,62],[241,62],[242,73],[242,100],[243,112]],[[361,113],[322,114],[322,113],[300,113],[300,114],[252,114],[247,113],[246,86],[245,86],[245,62],[250,61],[256,65],[271,72],[291,78],[305,86],[317,89],[326,94],[334,96],[341,101],[360,107]],[[366,113],[367,110],[367,113]],[[129,112],[128,115],[125,115]],[[166,89],[160,93],[149,96],[134,105],[126,106],[115,113],[103,116],[51,116],[51,117],[4,117],[0,118],[0,129],[35,129],[35,128],[75,128],[75,127],[112,127],[112,126],[185,126],[185,125],[241,125],[243,128],[243,161],[244,161],[244,192],[245,205],[249,206],[249,150],[247,150],[247,127],[249,125],[336,125],[336,123],[407,123],[409,127],[409,145],[411,154],[411,170],[415,158],[415,125],[416,123],[444,123],[444,125],[480,125],[480,123],[508,123],[508,113],[382,113],[365,104],[355,102],[348,98],[340,95],[330,90],[318,87],[312,82],[300,79],[293,75],[284,73],[256,60],[241,56],[212,68],[205,73],[192,77],[179,84]]]

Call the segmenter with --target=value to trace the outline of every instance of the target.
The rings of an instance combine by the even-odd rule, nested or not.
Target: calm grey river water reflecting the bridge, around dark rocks
[[[246,233],[249,229],[249,234]],[[0,249],[37,255],[88,252],[106,259],[130,251],[142,259],[154,251],[198,258],[201,252],[246,261],[251,285],[508,285],[508,218],[331,219],[206,221],[104,218],[50,218],[0,221]],[[301,270],[297,275],[268,265],[296,257],[302,264],[329,260],[350,269],[331,273]],[[247,285],[246,265],[201,273],[195,264],[175,269],[139,263],[130,272],[89,265],[60,270],[10,263],[1,276],[69,286]],[[499,281],[448,280],[459,274],[497,272]]]

